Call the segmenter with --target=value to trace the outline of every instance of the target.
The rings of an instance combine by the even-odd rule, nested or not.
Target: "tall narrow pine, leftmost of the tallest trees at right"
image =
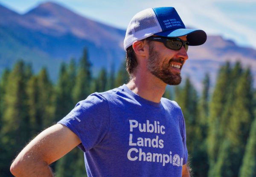
[[[227,88],[230,86],[230,63],[221,67],[216,86],[209,105],[209,129],[207,137],[207,151],[209,157],[209,177],[215,177],[215,164],[219,153],[219,145],[224,139],[224,123],[228,117],[223,117],[224,106],[227,103]]]

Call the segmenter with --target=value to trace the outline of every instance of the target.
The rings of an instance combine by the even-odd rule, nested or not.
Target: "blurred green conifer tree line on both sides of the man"
[[[117,72],[101,69],[93,77],[87,50],[78,63],[63,63],[56,83],[46,68],[34,74],[31,65],[18,61],[0,79],[0,174],[17,153],[45,128],[55,124],[89,94],[127,83],[125,62]],[[215,86],[205,75],[196,91],[189,77],[183,86],[167,88],[164,97],[175,100],[186,121],[189,163],[194,177],[256,176],[256,92],[249,68],[225,63]],[[74,148],[51,165],[56,177],[86,175],[83,152]]]

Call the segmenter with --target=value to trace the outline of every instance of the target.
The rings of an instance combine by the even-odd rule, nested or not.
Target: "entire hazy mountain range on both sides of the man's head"
[[[60,63],[72,57],[78,60],[84,47],[94,74],[102,67],[118,68],[125,58],[124,37],[124,30],[82,17],[57,3],[42,3],[26,14],[0,5],[0,72],[22,58],[32,63],[35,72],[47,66],[56,80]],[[204,45],[189,47],[188,54],[182,75],[190,77],[199,89],[204,74],[208,72],[215,80],[227,60],[250,66],[256,79],[256,50],[221,36],[208,35]]]

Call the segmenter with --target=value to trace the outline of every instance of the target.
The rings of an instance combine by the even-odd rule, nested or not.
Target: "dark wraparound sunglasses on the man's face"
[[[146,38],[146,40],[164,43],[164,45],[168,49],[172,49],[172,50],[180,50],[182,46],[184,46],[186,51],[188,51],[188,49],[189,49],[189,42],[182,40],[178,37],[156,36],[156,37],[148,37],[148,38]]]

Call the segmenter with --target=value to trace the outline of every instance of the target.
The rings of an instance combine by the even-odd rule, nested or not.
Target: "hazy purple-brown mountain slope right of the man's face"
[[[188,55],[189,60],[183,67],[183,76],[190,77],[197,88],[201,88],[201,82],[198,81],[204,79],[205,73],[209,73],[211,80],[215,81],[218,69],[226,61],[240,61],[244,68],[250,67],[256,80],[256,50],[237,46],[221,36],[207,36],[204,45],[189,46]]]

